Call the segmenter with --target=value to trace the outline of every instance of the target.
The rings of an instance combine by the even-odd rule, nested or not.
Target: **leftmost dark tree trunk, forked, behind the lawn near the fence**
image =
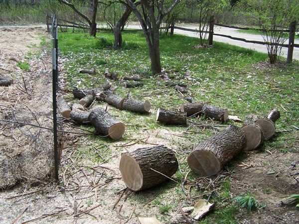
[[[91,18],[89,16],[82,13],[72,2],[67,0],[59,0],[59,2],[62,2],[63,4],[68,5],[71,7],[79,16],[81,16],[83,19],[85,19],[89,24],[89,34],[91,36],[96,36],[97,34],[97,23],[96,23],[96,17],[97,17],[97,10],[98,10],[98,0],[90,0],[90,7],[89,7],[89,13],[91,14]]]

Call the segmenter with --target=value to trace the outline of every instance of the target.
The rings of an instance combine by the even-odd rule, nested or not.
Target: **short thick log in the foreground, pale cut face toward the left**
[[[121,155],[122,178],[133,191],[148,189],[167,181],[167,177],[171,177],[177,168],[174,152],[163,145],[140,148]]]

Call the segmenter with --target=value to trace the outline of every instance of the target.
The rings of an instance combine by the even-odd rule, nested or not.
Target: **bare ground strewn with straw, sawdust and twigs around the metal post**
[[[18,170],[10,173],[11,186],[20,182],[0,192],[0,223],[136,224],[139,221],[135,214],[161,216],[159,207],[162,205],[155,201],[159,197],[170,203],[182,201],[183,206],[192,204],[183,193],[177,197],[175,192],[180,189],[172,181],[135,193],[125,190],[121,180],[118,169],[121,152],[163,144],[182,155],[178,158],[180,163],[185,160],[192,145],[190,139],[162,127],[154,131],[145,129],[140,136],[127,142],[107,140],[106,145],[94,145],[82,134],[64,133],[60,181],[49,180],[46,174],[51,173],[53,165],[49,159],[53,154],[51,131],[11,122],[52,126],[49,50],[42,51],[40,58],[28,59],[30,70],[27,72],[16,66],[29,51],[37,50],[39,35],[45,35],[45,29],[6,28],[0,29],[0,33],[0,68],[5,69],[0,69],[0,76],[15,80],[11,87],[0,87],[0,152],[6,160],[14,160],[17,164],[13,167]],[[11,123],[7,125],[7,122]],[[64,129],[82,132],[68,125],[64,125]],[[178,141],[181,145],[173,144]],[[106,151],[110,153],[105,154]],[[259,212],[247,214],[240,210],[239,223],[299,223],[295,206],[281,203],[289,195],[298,194],[298,151],[297,142],[293,152],[282,153],[277,149],[269,153],[247,152],[245,158],[237,161],[236,177],[232,177],[232,196],[252,192],[260,203],[266,204],[266,208]],[[95,162],[98,154],[104,162]],[[31,171],[30,175],[28,171]],[[187,171],[182,170],[184,174]],[[8,172],[1,170],[1,175],[4,173]],[[15,180],[12,180],[13,174],[18,174]],[[163,217],[162,223],[185,223],[176,206]]]

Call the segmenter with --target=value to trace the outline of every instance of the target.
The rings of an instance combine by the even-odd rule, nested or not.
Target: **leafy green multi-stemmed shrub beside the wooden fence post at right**
[[[263,39],[267,44],[268,57],[271,64],[280,60],[281,44],[288,39],[285,29],[299,15],[298,0],[240,0],[239,11],[249,14],[264,29]]]

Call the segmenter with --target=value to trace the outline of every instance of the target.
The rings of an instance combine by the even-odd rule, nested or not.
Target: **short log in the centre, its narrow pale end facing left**
[[[158,109],[156,120],[165,124],[187,125],[186,112]]]

